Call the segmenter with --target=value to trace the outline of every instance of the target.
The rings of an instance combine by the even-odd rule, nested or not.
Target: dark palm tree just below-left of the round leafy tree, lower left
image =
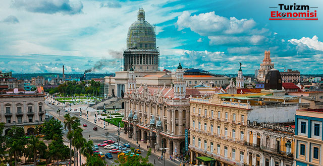
[[[32,135],[31,138],[28,140],[27,151],[30,154],[33,154],[34,165],[37,165],[37,162],[36,162],[37,152],[39,152],[40,154],[43,154],[46,151],[46,149],[47,149],[47,146],[45,145],[45,143],[43,141],[38,140],[37,137],[34,137]]]

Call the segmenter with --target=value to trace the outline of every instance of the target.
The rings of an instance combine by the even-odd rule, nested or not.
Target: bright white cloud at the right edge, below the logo
[[[304,45],[308,48],[317,50],[317,51],[323,51],[323,42],[318,41],[318,37],[314,35],[312,38],[309,37],[302,37],[301,39],[291,39],[288,40],[288,42],[297,45],[299,47],[303,47]]]

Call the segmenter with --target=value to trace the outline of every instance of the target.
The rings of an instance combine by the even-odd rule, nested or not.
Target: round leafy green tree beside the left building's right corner
[[[49,121],[45,121],[43,124],[42,133],[45,135],[44,139],[52,140],[54,136],[60,137],[62,139],[62,127],[61,121],[50,119]]]

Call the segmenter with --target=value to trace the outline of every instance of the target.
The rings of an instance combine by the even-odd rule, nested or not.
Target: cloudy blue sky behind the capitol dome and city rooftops
[[[297,1],[318,7],[318,21],[270,21],[269,7],[296,1],[104,1],[13,0],[0,2],[0,70],[82,73],[121,70],[128,27],[144,8],[156,25],[160,69],[202,68],[244,73],[259,68],[271,50],[275,68],[323,73],[323,1]],[[313,10],[313,9],[311,9]]]

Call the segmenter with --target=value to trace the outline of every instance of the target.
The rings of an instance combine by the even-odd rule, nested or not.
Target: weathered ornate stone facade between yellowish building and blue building
[[[293,124],[257,123],[247,125],[247,164],[291,166],[294,156]]]

